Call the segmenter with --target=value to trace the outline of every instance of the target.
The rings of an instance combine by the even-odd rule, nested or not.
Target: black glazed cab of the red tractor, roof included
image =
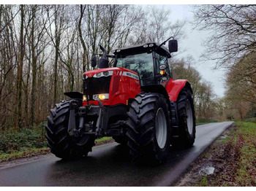
[[[170,67],[167,62],[170,52],[159,45],[150,42],[114,50],[113,54],[116,55],[114,67],[130,69],[138,73],[142,86],[160,84],[170,78]]]

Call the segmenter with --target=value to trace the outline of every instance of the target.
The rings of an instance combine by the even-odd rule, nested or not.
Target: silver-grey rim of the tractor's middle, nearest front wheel
[[[157,110],[156,115],[156,136],[157,136],[157,144],[160,149],[165,147],[165,143],[167,140],[167,124],[165,119],[165,113],[162,108]]]

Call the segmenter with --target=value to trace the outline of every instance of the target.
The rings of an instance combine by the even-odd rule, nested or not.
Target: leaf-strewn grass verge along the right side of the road
[[[236,127],[214,141],[178,186],[256,186],[256,123],[236,122]],[[214,174],[199,174],[206,166]]]

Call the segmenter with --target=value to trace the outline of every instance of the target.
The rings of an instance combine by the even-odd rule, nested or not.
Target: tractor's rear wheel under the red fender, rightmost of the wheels
[[[192,147],[195,142],[195,109],[192,93],[184,87],[178,95],[178,138],[173,139],[174,147]]]

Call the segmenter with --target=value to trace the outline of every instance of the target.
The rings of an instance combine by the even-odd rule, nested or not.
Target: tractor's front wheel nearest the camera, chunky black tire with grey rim
[[[162,163],[170,149],[170,112],[159,93],[139,93],[129,106],[127,138],[136,160]]]

